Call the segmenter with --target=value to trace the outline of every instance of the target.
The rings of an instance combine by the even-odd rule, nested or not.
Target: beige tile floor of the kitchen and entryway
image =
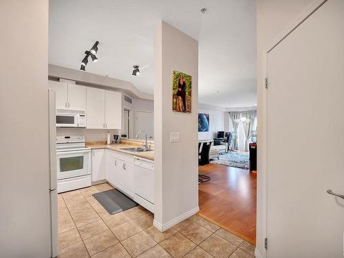
[[[109,215],[92,196],[98,184],[58,195],[59,258],[252,258],[255,246],[198,215],[160,232],[153,213],[136,206]]]

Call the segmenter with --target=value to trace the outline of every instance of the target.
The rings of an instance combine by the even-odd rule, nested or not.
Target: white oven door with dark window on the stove
[[[60,151],[57,154],[57,179],[91,174],[91,150]]]

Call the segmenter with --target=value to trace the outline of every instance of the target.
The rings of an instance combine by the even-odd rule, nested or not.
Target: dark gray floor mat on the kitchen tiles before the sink
[[[94,193],[93,197],[102,204],[102,206],[111,215],[120,213],[138,204],[131,200],[127,195],[117,189],[111,189],[100,193]]]

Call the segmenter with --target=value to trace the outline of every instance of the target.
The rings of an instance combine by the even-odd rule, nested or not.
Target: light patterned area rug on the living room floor
[[[226,154],[219,155],[218,159],[211,160],[211,163],[233,166],[239,169],[250,169],[248,154],[229,151]]]

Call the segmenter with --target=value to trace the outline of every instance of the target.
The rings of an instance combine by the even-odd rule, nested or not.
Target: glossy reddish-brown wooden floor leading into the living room
[[[211,177],[199,184],[200,215],[255,244],[257,175],[219,164],[199,172]]]

